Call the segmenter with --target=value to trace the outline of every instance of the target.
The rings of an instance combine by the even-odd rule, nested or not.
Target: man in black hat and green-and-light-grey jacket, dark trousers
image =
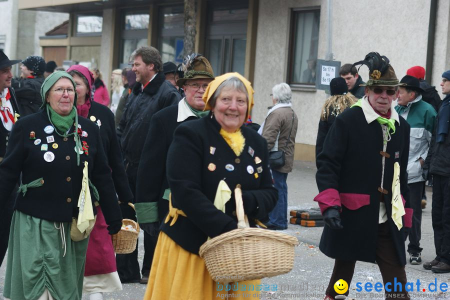
[[[421,199],[425,188],[425,179],[422,177],[422,166],[428,153],[429,142],[436,122],[436,111],[431,104],[422,98],[424,90],[420,87],[419,79],[405,75],[398,87],[398,105],[395,110],[411,126],[409,133],[408,157],[408,187],[409,201],[413,209],[412,227],[408,232],[409,263],[420,264],[420,225],[422,220]]]

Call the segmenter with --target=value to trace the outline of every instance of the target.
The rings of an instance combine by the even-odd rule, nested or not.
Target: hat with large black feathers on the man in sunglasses
[[[353,63],[354,66],[365,64],[369,69],[369,79],[360,86],[397,86],[398,79],[395,71],[389,64],[389,58],[379,55],[378,52],[370,52],[365,55],[364,60]],[[358,68],[359,70],[359,68]]]

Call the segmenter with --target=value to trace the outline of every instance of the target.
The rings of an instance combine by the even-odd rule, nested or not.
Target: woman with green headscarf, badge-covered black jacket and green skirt
[[[42,110],[18,120],[0,163],[0,194],[20,180],[8,244],[6,299],[81,299],[95,201],[109,234],[121,214],[98,126],[77,116],[75,82],[50,74]],[[0,210],[5,205],[0,197]]]

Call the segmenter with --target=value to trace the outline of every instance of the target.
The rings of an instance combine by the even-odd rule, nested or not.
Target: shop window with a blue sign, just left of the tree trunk
[[[162,62],[183,62],[184,8],[182,5],[161,6],[159,9],[158,50]]]

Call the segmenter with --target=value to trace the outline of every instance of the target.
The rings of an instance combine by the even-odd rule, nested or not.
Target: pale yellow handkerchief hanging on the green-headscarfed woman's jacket
[[[83,180],[81,183],[81,192],[78,197],[78,220],[76,227],[82,233],[95,223],[92,200],[90,199],[90,190],[87,177],[87,161],[84,161]]]

